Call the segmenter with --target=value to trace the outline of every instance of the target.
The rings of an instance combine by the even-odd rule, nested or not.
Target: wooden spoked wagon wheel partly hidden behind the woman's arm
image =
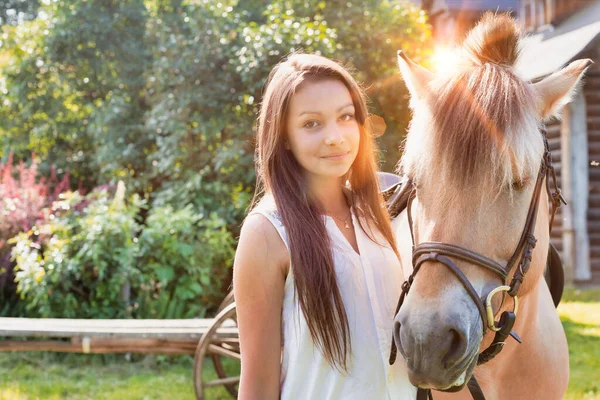
[[[210,354],[215,366],[218,379],[204,382],[204,359]],[[236,398],[239,376],[229,377],[223,368],[222,359],[230,358],[240,361],[240,341],[237,332],[235,303],[231,303],[217,314],[211,327],[206,331],[194,356],[194,389],[196,399],[204,400],[204,389],[212,386],[225,386],[227,391]]]

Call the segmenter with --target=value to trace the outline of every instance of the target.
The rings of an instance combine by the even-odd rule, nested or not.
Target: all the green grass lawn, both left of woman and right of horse
[[[571,357],[566,399],[600,400],[600,290],[567,291],[559,314]],[[194,399],[191,357],[137,358],[128,362],[121,355],[0,353],[0,400]],[[214,378],[210,369],[208,373]],[[213,388],[207,398],[231,396]]]

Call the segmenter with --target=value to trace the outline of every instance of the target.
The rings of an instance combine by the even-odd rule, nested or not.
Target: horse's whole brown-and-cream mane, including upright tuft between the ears
[[[534,91],[514,69],[520,37],[509,16],[482,18],[457,49],[456,68],[436,76],[426,100],[411,102],[401,172],[482,195],[535,179],[543,141]]]

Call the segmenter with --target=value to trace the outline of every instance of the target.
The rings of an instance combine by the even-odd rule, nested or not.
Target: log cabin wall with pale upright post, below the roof
[[[561,120],[546,125],[558,182],[569,202],[558,211],[551,240],[569,281],[600,285],[600,45],[577,58],[596,63]]]

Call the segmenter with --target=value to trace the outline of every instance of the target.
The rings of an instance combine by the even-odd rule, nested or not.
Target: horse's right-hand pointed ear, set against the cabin
[[[538,112],[545,120],[557,117],[561,109],[571,101],[586,68],[593,63],[590,59],[573,61],[565,68],[533,84],[540,94]]]

